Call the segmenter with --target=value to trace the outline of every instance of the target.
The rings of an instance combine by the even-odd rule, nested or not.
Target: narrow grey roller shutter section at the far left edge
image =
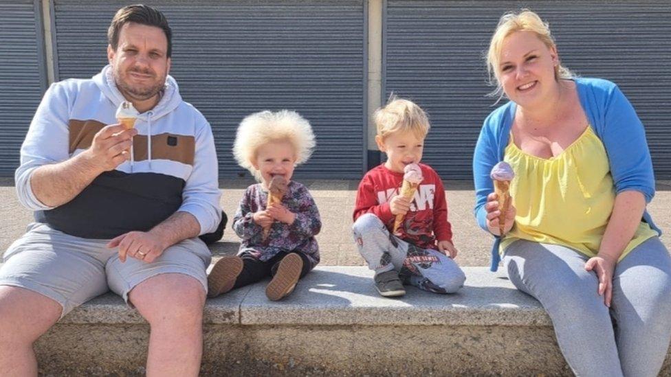
[[[0,1],[0,176],[13,176],[46,89],[39,2]]]

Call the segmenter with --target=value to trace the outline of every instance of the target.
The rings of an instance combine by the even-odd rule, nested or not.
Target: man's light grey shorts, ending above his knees
[[[198,238],[169,247],[151,263],[135,258],[122,263],[117,249],[107,249],[107,242],[70,236],[45,224],[32,223],[5,251],[0,285],[26,288],[57,301],[63,306],[61,317],[107,290],[127,303],[131,289],[162,273],[194,277],[207,292],[206,269],[212,256]]]

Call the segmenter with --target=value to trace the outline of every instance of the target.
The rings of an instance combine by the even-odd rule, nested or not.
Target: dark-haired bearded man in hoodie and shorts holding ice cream
[[[108,38],[109,65],[53,84],[21,148],[17,192],[36,222],[0,269],[0,376],[35,376],[32,343],[108,287],[151,325],[149,376],[199,371],[210,251],[197,236],[221,221],[212,131],[168,76],[161,12],[122,8]],[[130,130],[124,100],[140,113]]]

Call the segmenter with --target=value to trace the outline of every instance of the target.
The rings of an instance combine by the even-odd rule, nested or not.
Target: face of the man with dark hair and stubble
[[[144,101],[163,89],[170,71],[168,38],[159,27],[126,23],[117,49],[107,47],[114,81],[126,99]]]

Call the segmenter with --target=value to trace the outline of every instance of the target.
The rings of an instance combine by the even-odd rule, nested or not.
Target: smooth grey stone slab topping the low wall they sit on
[[[549,326],[542,306],[520,293],[503,273],[465,267],[459,293],[437,295],[415,287],[399,299],[380,297],[373,271],[358,266],[318,267],[287,299],[272,302],[260,282],[208,299],[204,323],[240,325],[504,325]],[[76,308],[60,323],[142,324],[123,300],[107,293]]]

